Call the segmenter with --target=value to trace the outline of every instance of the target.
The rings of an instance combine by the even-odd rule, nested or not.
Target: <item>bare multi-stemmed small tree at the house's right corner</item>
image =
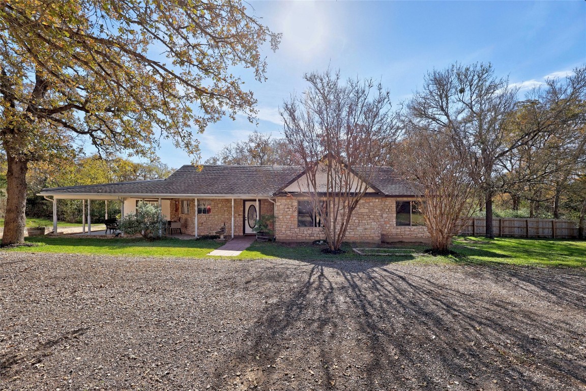
[[[432,253],[447,254],[452,237],[476,209],[479,169],[447,132],[410,130],[398,145],[396,170],[417,183]]]

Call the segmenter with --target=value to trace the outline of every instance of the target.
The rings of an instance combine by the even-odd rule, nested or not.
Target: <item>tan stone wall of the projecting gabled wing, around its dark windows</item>
[[[297,226],[297,202],[307,200],[298,197],[278,197],[275,213],[277,216],[275,234],[282,242],[311,242],[324,239],[322,227]],[[352,213],[352,221],[346,231],[346,240],[349,242],[374,242],[381,240],[426,240],[429,237],[427,229],[421,226],[395,226],[394,198],[365,197],[360,200]],[[400,199],[401,201],[415,200]]]

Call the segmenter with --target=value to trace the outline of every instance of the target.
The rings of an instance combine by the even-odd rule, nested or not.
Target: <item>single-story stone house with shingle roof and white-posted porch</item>
[[[180,222],[183,233],[195,236],[213,234],[224,224],[229,236],[254,234],[258,216],[269,214],[275,216],[275,237],[280,242],[324,239],[303,178],[299,166],[184,165],[166,179],[50,188],[39,195],[52,197],[54,232],[59,199],[118,200],[122,215],[134,212],[144,200],[160,205],[166,219]],[[386,166],[367,185],[346,240],[380,243],[428,238],[413,186]]]

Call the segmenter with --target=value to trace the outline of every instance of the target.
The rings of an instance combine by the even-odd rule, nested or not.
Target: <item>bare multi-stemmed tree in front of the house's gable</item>
[[[299,186],[321,220],[329,250],[338,251],[353,210],[377,174],[381,145],[397,138],[396,115],[389,92],[372,79],[343,84],[331,70],[304,79],[309,88],[284,102],[284,132],[306,172]]]

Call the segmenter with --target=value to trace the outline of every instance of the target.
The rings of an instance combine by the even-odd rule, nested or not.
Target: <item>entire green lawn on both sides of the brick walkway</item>
[[[220,247],[222,243],[214,240],[163,239],[145,242],[142,239],[97,239],[88,237],[30,237],[29,243],[36,247],[18,247],[5,251],[28,251],[39,253],[104,254],[132,256],[168,256],[202,258]],[[299,261],[323,260],[364,260],[415,263],[445,264],[516,264],[532,266],[586,267],[586,241],[552,239],[515,239],[497,238],[488,240],[480,237],[458,237],[454,240],[453,250],[458,256],[373,256],[359,255],[352,251],[349,244],[343,247],[346,253],[339,255],[323,254],[325,246],[314,244],[281,244],[254,242],[246,251],[234,259],[292,259]],[[357,247],[368,247],[359,245]],[[393,248],[393,245],[377,247]],[[398,244],[401,252],[412,249],[421,253],[428,246]]]

